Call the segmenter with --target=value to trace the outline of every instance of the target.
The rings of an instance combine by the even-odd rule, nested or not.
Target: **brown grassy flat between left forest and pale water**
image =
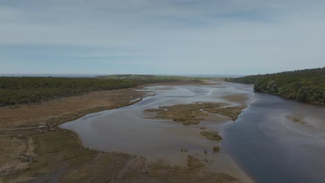
[[[159,85],[201,85],[198,80],[184,80]],[[44,123],[64,123],[78,119],[85,114],[111,110],[138,102],[145,97],[143,92],[136,91],[142,87],[157,85],[147,84],[131,89],[115,89],[101,92],[90,92],[81,96],[60,98],[42,104],[17,105],[0,107],[0,130],[7,128],[28,128]]]

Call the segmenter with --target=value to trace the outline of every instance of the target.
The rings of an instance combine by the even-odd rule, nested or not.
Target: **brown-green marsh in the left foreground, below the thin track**
[[[6,143],[22,139],[18,148],[8,148],[7,153],[0,155],[2,162],[6,163],[0,164],[0,180],[3,182],[240,182],[231,175],[211,170],[204,159],[186,155],[188,152],[184,152],[188,156],[187,166],[171,166],[163,160],[149,162],[144,157],[126,153],[104,153],[84,148],[78,143],[78,136],[70,130],[47,133],[16,131],[1,133],[0,137]],[[35,147],[31,163],[24,153],[30,145],[23,142],[29,138],[33,141],[27,143]],[[8,155],[17,149],[21,150],[10,157],[12,161],[8,161]]]

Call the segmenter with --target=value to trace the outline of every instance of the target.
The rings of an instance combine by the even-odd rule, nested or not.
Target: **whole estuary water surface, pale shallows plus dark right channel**
[[[201,127],[218,130],[222,153],[230,155],[256,182],[325,181],[325,108],[254,93],[249,85],[150,86],[142,89],[155,94],[115,110],[83,116],[60,125],[77,132],[83,145],[97,150],[143,155],[150,160],[165,159],[175,164],[181,148],[213,156],[215,141],[199,134]],[[149,119],[154,113],[143,110],[159,106],[224,102],[224,96],[247,96],[247,109],[236,121],[183,125],[172,120]],[[299,123],[292,119],[299,119]],[[220,165],[221,166],[221,165]]]

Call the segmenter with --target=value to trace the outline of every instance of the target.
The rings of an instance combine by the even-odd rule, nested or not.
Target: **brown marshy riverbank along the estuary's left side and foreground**
[[[190,83],[187,83],[188,85]],[[181,83],[179,84],[181,85]],[[143,86],[142,86],[143,87]],[[140,89],[140,87],[138,87]],[[143,92],[119,89],[92,92],[84,96],[26,105],[16,109],[0,108],[1,128],[17,128],[40,123],[63,123],[81,116],[140,101]],[[134,101],[135,100],[135,101]],[[40,132],[42,131],[42,132]],[[126,153],[103,153],[82,146],[78,135],[55,128],[1,132],[0,173],[2,182],[240,182],[247,178],[215,173],[201,166],[204,159],[187,153],[185,166],[151,162]],[[15,153],[12,153],[15,152]],[[231,166],[228,164],[228,166]],[[234,165],[235,166],[235,165]],[[222,169],[222,167],[221,167]],[[92,177],[88,175],[94,175]],[[189,180],[190,177],[190,180]],[[239,178],[239,179],[238,179]],[[244,181],[245,182],[245,181]]]

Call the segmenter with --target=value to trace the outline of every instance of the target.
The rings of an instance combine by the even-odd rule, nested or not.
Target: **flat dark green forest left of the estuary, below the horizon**
[[[0,77],[0,106],[40,103],[87,92],[122,89],[176,80],[100,80],[97,78]]]

